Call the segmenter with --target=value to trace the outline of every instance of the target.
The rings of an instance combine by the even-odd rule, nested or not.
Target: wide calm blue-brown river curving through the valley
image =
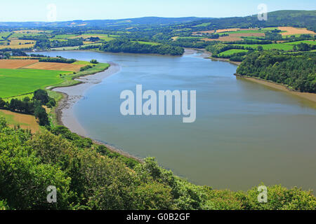
[[[192,183],[247,190],[316,189],[316,110],[287,92],[233,76],[237,66],[204,59],[88,51],[41,52],[119,64],[72,109],[88,137],[159,164]],[[122,116],[122,90],[196,90],[197,119]]]

